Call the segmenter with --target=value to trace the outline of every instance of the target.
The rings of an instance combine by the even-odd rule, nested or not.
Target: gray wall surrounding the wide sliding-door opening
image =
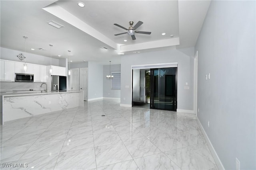
[[[131,105],[131,66],[140,64],[158,64],[178,62],[178,109],[193,110],[193,88],[185,90],[186,82],[193,84],[190,78],[190,57],[194,48],[138,53],[121,57],[121,104]],[[192,91],[192,92],[191,92]]]

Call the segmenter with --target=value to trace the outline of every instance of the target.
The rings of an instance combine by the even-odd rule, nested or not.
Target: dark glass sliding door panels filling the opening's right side
[[[151,68],[151,109],[177,110],[177,67]]]

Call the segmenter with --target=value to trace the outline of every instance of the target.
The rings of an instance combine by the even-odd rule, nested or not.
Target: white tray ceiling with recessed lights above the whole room
[[[24,51],[26,35],[28,53],[49,57],[52,44],[54,58],[71,56],[74,62],[108,64],[111,60],[112,64],[118,64],[122,57],[118,53],[194,47],[210,4],[194,0],[80,0],[85,4],[80,8],[77,2],[1,0],[1,47]],[[64,27],[57,29],[47,23],[50,20]],[[128,34],[114,36],[126,32],[114,23],[128,28],[129,21],[134,21],[134,25],[144,22],[136,31],[150,31],[151,35],[136,33],[136,40]],[[161,35],[163,32],[166,35]]]

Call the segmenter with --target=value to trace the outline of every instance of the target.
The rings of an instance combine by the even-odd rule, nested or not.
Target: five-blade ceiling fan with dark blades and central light
[[[140,34],[151,34],[151,32],[145,32],[145,31],[135,31],[135,29],[137,29],[140,25],[142,25],[142,21],[138,21],[134,27],[132,27],[133,25],[133,21],[130,21],[129,24],[130,24],[130,27],[127,29],[126,27],[123,27],[121,25],[118,25],[117,23],[114,23],[114,25],[122,28],[122,29],[125,29],[127,30],[127,32],[124,32],[124,33],[119,33],[119,34],[115,34],[115,35],[122,35],[122,34],[125,34],[127,33],[128,35],[131,35],[132,36],[132,40],[135,40],[136,37],[135,37],[135,33],[140,33]]]

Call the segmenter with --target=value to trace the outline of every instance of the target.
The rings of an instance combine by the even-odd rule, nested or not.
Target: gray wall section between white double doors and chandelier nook
[[[88,100],[103,97],[103,66],[88,62]]]

